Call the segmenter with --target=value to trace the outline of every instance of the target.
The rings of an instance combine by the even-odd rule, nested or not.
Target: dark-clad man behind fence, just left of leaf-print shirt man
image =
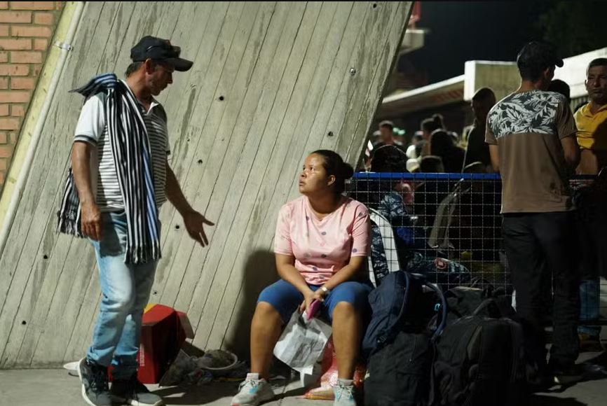
[[[472,112],[475,113],[475,122],[464,130],[463,139],[467,144],[464,167],[473,162],[482,162],[486,169],[491,169],[489,146],[485,143],[485,128],[487,114],[495,104],[496,95],[489,87],[480,88],[472,96]]]

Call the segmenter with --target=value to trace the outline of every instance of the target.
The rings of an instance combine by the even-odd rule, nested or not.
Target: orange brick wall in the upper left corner
[[[0,1],[0,190],[64,1]]]

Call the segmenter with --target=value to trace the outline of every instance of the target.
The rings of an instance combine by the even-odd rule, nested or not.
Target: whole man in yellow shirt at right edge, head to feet
[[[607,165],[607,58],[594,59],[588,64],[585,85],[590,102],[575,112],[582,151],[578,173],[597,175]],[[607,270],[607,198],[596,186],[582,188],[577,193],[582,322],[599,318],[599,274],[606,274]],[[579,333],[582,351],[603,351],[599,326],[580,325]]]

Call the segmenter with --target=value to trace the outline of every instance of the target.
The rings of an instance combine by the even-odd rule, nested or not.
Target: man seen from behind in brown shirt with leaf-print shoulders
[[[503,237],[525,346],[540,378],[565,384],[577,378],[579,351],[580,278],[568,188],[579,162],[576,128],[565,97],[545,91],[555,66],[563,66],[554,46],[528,43],[517,66],[521,85],[489,112],[486,142],[493,169],[502,176]],[[554,333],[547,363],[542,284],[551,279]]]

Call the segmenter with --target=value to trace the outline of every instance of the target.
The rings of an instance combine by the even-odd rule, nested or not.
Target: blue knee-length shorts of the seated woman
[[[308,285],[312,290],[317,290],[320,285]],[[324,316],[332,320],[333,310],[339,302],[347,302],[355,309],[368,313],[368,296],[373,290],[369,282],[347,281],[340,283],[325,295],[325,302],[322,303],[321,311]],[[261,291],[257,302],[266,302],[272,305],[278,311],[282,321],[286,324],[291,318],[297,307],[303,302],[303,295],[291,283],[280,279]]]

